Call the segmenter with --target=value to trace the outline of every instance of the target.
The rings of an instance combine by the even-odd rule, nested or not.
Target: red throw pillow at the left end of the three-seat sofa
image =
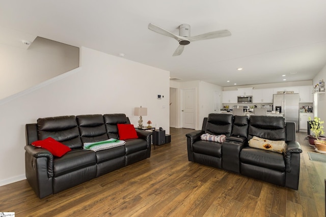
[[[61,157],[68,151],[71,151],[71,149],[67,145],[62,144],[61,142],[58,142],[57,140],[51,137],[32,142],[32,145],[39,148],[45,148],[50,151],[53,156],[57,157]]]

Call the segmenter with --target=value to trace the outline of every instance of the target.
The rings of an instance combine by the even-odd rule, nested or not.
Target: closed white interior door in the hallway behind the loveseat
[[[183,89],[183,128],[196,129],[196,89]]]

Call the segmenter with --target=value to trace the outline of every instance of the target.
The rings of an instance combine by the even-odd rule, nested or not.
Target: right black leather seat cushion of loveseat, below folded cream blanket
[[[285,171],[285,161],[283,154],[261,150],[251,147],[242,148],[240,151],[240,161],[269,169]]]

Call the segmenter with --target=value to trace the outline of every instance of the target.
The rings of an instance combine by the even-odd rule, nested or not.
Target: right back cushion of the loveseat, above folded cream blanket
[[[286,139],[285,118],[275,116],[250,116],[248,140],[253,136],[269,140]]]

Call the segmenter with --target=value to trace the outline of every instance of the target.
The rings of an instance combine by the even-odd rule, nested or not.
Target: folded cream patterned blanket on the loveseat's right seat
[[[273,140],[259,138],[257,136],[254,136],[251,140],[249,140],[248,144],[250,147],[253,148],[275,151],[279,153],[284,152],[284,148],[286,145],[285,141],[273,141]]]

